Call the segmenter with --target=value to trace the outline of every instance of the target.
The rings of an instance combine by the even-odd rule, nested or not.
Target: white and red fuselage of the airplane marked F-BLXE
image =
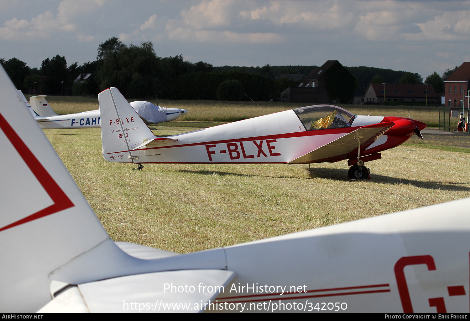
[[[259,116],[238,122],[227,123],[203,130],[169,136],[176,142],[138,148],[141,140],[128,143],[132,156],[139,157],[139,163],[277,163],[285,164],[298,157],[337,140],[363,126],[381,122],[412,122],[400,117],[378,117],[357,115],[351,127],[306,130],[293,110]],[[127,138],[133,135],[134,122],[123,120]],[[113,126],[108,122],[103,126]],[[380,136],[372,144],[364,145],[360,155],[379,153],[389,148],[401,145],[409,139],[415,130],[415,125],[402,126],[395,124],[385,135]],[[116,139],[122,139],[116,133]],[[106,160],[132,162],[125,150],[104,153]],[[122,155],[122,156],[121,156]],[[357,148],[351,153],[338,155],[337,158],[309,160],[309,163],[324,161],[339,161],[357,157]]]

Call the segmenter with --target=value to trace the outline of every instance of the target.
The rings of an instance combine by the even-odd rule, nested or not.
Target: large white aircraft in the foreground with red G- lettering
[[[469,312],[470,199],[188,254],[114,242],[2,68],[0,96],[2,312]]]

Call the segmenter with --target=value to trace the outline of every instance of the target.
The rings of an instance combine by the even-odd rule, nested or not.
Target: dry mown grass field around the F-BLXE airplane
[[[67,108],[73,112],[82,108],[81,104],[93,106],[93,102],[49,102],[55,110],[69,103]],[[185,106],[189,115],[203,115],[211,109],[216,114],[222,106],[218,102],[214,106],[193,103],[171,102],[165,106]],[[163,102],[160,105],[164,106]],[[241,105],[227,103],[222,111],[259,115],[259,107]],[[288,109],[267,105],[263,106],[266,114],[278,111],[275,108]],[[404,110],[386,108],[390,111],[387,115]],[[371,114],[380,115],[376,112],[381,111]],[[415,113],[427,117],[430,112]],[[211,113],[206,117],[200,121],[219,116]],[[165,136],[213,124],[201,122],[170,122],[151,129]],[[146,164],[143,171],[134,171],[131,164],[102,158],[99,129],[45,133],[114,240],[180,253],[470,196],[468,137],[452,141],[425,136],[424,143],[413,138],[406,145],[383,152],[383,159],[367,163],[372,180],[350,181],[346,161],[313,164],[311,171],[308,165],[220,164]]]

